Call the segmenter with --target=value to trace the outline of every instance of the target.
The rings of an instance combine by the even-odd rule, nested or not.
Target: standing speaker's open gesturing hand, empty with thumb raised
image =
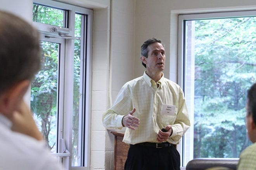
[[[140,124],[140,119],[133,116],[133,113],[135,111],[136,111],[136,109],[133,108],[133,110],[131,110],[128,114],[126,114],[122,119],[123,126],[130,128],[132,130],[135,130],[136,128],[138,128],[138,126]]]

